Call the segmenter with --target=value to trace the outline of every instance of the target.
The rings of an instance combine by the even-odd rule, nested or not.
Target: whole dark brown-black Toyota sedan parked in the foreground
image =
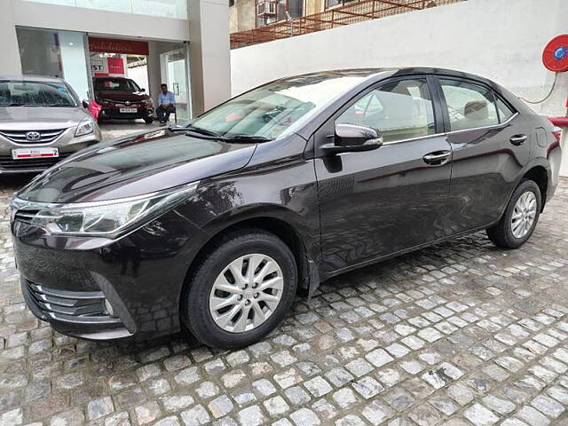
[[[547,120],[476,75],[286,78],[36,177],[12,201],[21,288],[68,335],[185,324],[240,347],[337,274],[484,229],[520,247],[560,157]]]

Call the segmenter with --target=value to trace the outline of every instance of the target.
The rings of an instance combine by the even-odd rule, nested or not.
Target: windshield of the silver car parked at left
[[[77,106],[65,83],[0,80],[0,106]]]

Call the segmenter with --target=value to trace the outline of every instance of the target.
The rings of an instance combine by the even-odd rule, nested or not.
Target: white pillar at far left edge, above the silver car
[[[16,37],[12,0],[2,2],[0,10],[0,40],[2,40],[0,75],[20,75],[20,50],[18,49],[18,38]]]

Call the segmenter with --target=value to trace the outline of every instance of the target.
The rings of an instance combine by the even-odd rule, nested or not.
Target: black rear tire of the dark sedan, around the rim
[[[523,237],[517,238],[515,235],[513,235],[513,231],[511,229],[513,211],[518,199],[521,198],[524,193],[529,191],[534,193],[536,197],[536,215],[534,217],[533,225],[531,226],[529,231]],[[522,180],[513,193],[513,196],[511,197],[509,204],[507,205],[507,209],[505,209],[505,213],[503,214],[503,217],[501,217],[499,223],[487,229],[487,236],[489,237],[489,240],[493,241],[496,246],[501,248],[521,247],[523,244],[525,244],[526,241],[529,240],[529,238],[531,238],[531,235],[533,235],[534,228],[539,222],[541,207],[542,197],[540,195],[539,185],[536,185],[533,180]]]

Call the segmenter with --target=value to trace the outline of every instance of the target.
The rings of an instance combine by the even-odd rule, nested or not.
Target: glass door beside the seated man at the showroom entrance
[[[162,81],[168,84],[168,90],[176,97],[177,122],[189,120],[192,106],[187,82],[187,57],[185,49],[167,51],[160,55]]]

